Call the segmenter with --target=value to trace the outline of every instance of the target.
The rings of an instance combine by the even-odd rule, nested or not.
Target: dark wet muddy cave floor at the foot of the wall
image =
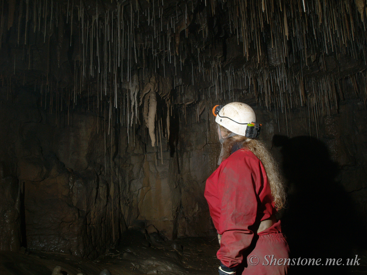
[[[138,230],[128,230],[121,239],[118,246],[94,261],[40,250],[0,252],[0,275],[51,275],[56,266],[61,267],[62,275],[100,275],[103,269],[108,269],[112,275],[218,274],[217,238],[192,237],[169,241],[159,234],[147,235]],[[344,269],[343,274],[367,274],[367,250],[356,250],[355,253],[361,258],[360,265]]]

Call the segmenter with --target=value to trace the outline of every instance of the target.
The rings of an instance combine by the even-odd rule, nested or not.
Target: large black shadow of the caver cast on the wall
[[[281,224],[290,258],[321,258],[318,266],[291,266],[290,274],[343,274],[348,268],[346,259],[355,258],[353,249],[366,246],[366,237],[355,204],[335,181],[337,163],[313,137],[275,135],[273,144],[281,146],[289,187]],[[327,258],[341,258],[341,265],[322,265]]]

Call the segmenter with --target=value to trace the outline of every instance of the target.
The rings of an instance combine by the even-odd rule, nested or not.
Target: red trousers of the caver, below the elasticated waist
[[[284,259],[289,258],[288,254],[288,243],[282,233],[259,235],[255,248],[247,255],[242,275],[285,275],[289,266],[288,261],[284,265]],[[237,270],[238,275],[241,269]]]

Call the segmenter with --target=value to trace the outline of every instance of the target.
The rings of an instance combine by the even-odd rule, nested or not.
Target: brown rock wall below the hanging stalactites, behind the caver
[[[95,258],[128,227],[151,228],[150,233],[158,231],[168,239],[215,235],[203,196],[220,151],[209,110],[199,116],[188,110],[181,121],[172,117],[176,128],[172,126],[170,140],[159,133],[152,147],[145,130],[132,132],[87,110],[74,109],[70,117],[57,119],[38,106],[31,92],[12,96],[13,104],[4,100],[0,109],[0,212],[6,225],[0,231],[1,250],[18,250],[23,244]],[[356,209],[366,207],[366,180],[361,180],[366,179],[366,110],[360,102],[350,99],[340,105],[339,113],[319,118],[317,132],[304,111],[279,117],[254,109],[263,125],[261,138],[269,148],[275,145],[273,154],[286,165],[290,201],[299,187],[287,174],[291,166],[286,157],[291,153],[284,154],[284,148],[309,135],[317,140],[318,135],[316,143],[323,144],[325,159],[339,170],[328,174],[328,182],[353,191]],[[292,207],[280,213],[285,221]],[[355,214],[359,228],[366,226],[365,214]]]

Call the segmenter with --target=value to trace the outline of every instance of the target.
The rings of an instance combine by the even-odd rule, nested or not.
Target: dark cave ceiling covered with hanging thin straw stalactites
[[[0,8],[3,93],[32,90],[50,112],[123,109],[127,124],[148,125],[157,105],[167,117],[187,105],[199,115],[208,101],[236,99],[316,115],[337,108],[349,86],[366,102],[364,0],[1,0]]]

